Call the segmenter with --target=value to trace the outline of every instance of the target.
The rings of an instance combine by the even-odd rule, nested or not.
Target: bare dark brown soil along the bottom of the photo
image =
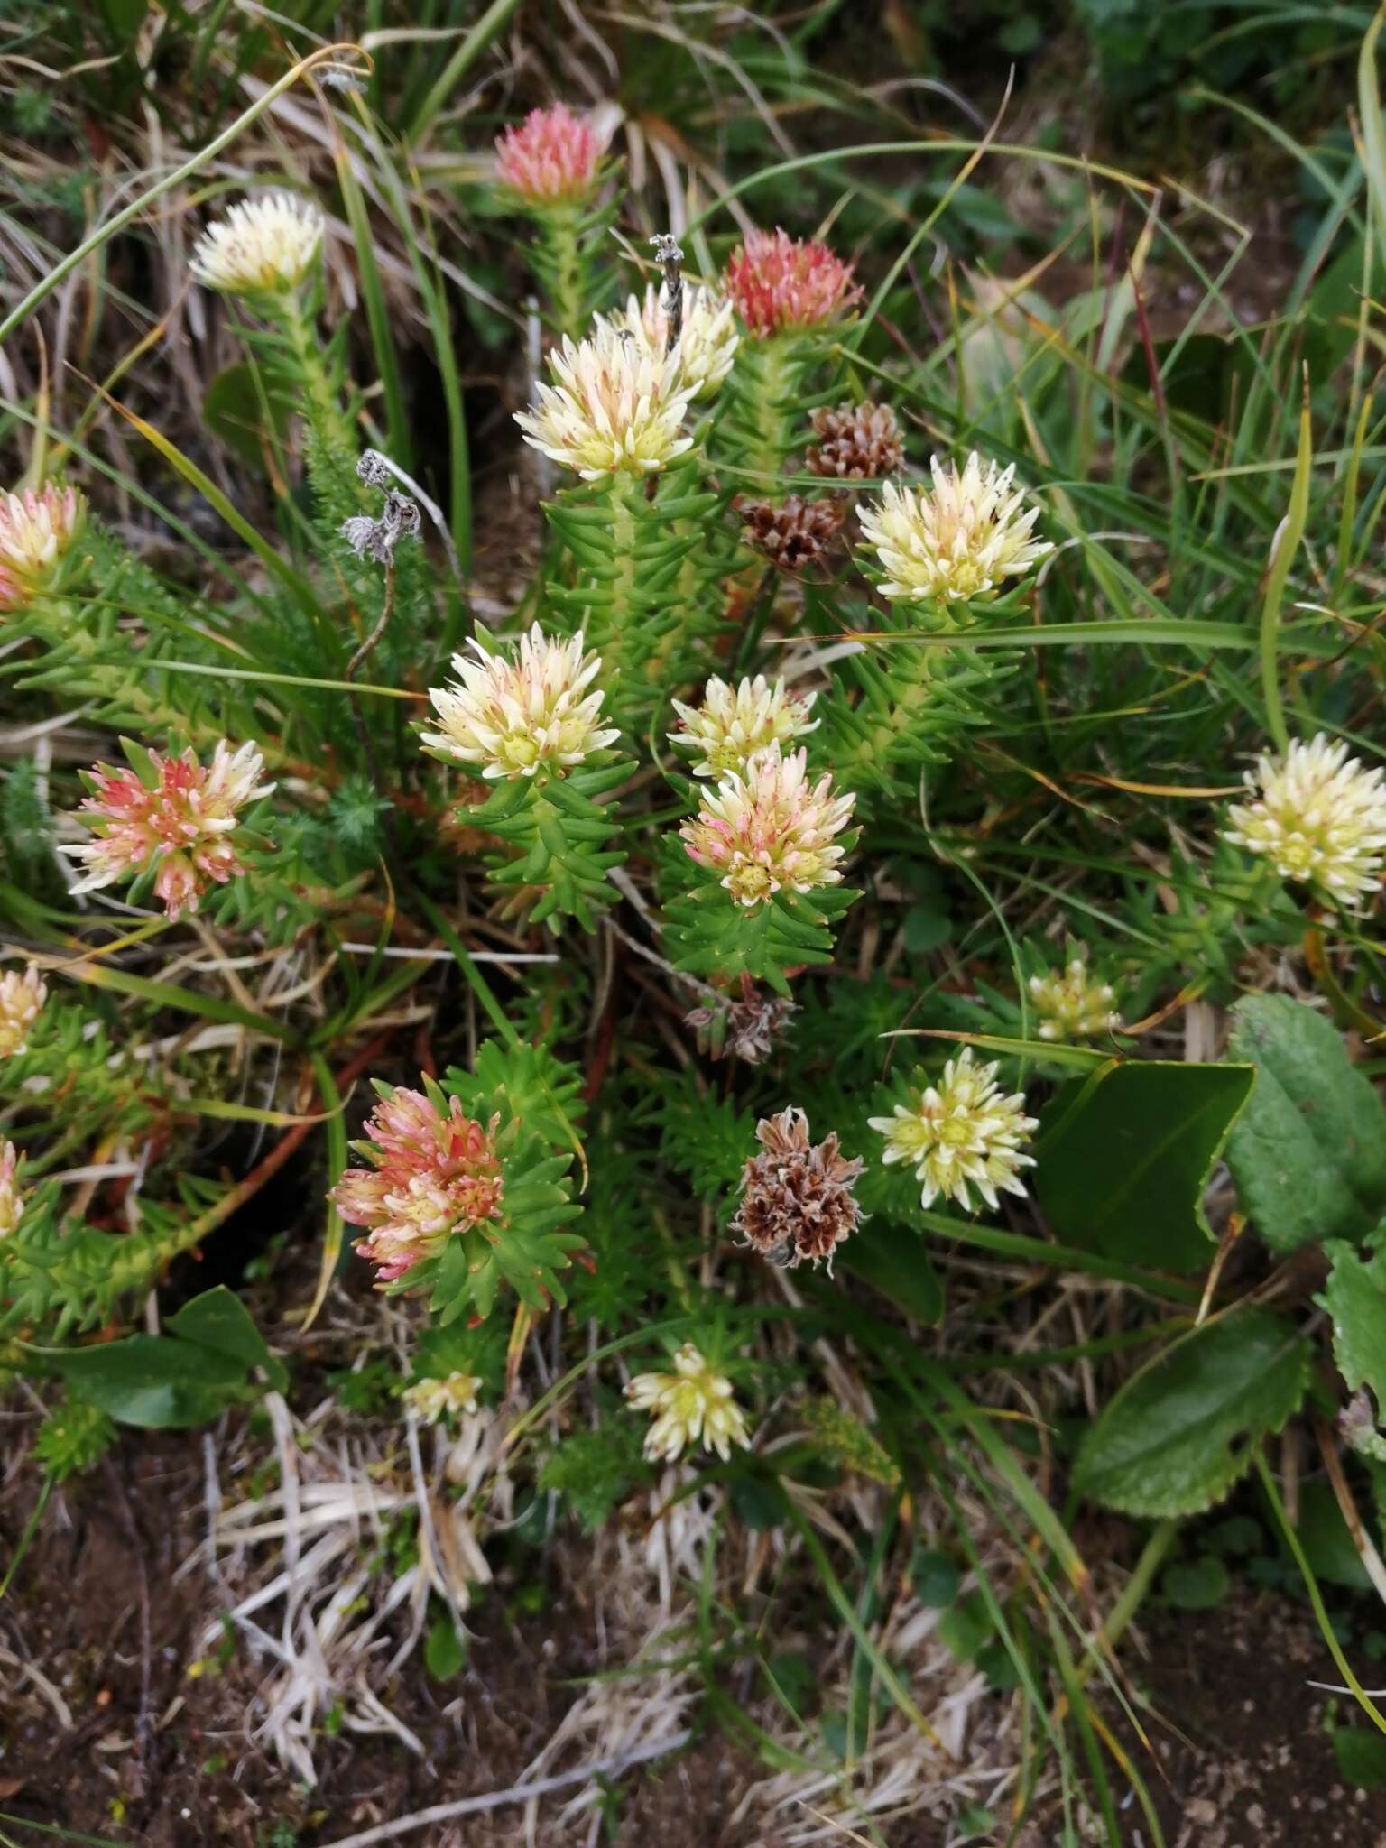
[[[9,1558],[33,1493],[31,1471],[11,1477],[0,1558]],[[203,1530],[201,1497],[201,1438],[170,1434],[126,1438],[50,1504],[0,1606],[0,1647],[48,1682],[44,1693],[4,1669],[0,1815],[142,1848],[322,1848],[512,1785],[575,1698],[565,1684],[599,1660],[586,1600],[564,1584],[558,1562],[547,1602],[530,1615],[508,1615],[514,1587],[501,1580],[471,1617],[475,1643],[456,1680],[440,1685],[414,1658],[388,1691],[425,1757],[390,1739],[342,1735],[323,1743],[322,1781],[305,1789],[246,1735],[262,1671],[242,1650],[220,1672],[188,1676],[216,1615],[205,1576],[176,1576]],[[1334,1696],[1308,1685],[1336,1682],[1336,1672],[1303,1606],[1238,1589],[1216,1611],[1151,1613],[1140,1641],[1125,1660],[1149,1700],[1155,1761],[1133,1737],[1125,1743],[1170,1848],[1386,1848],[1386,1791],[1353,1791],[1338,1774],[1325,1730]],[[1349,1722],[1351,1704],[1336,1708]],[[617,1780],[604,1839],[778,1848],[763,1822],[732,1820],[758,1774],[710,1728],[676,1757]],[[536,1809],[529,1839],[543,1848],[588,1839],[590,1818],[564,1824],[558,1805],[549,1798]],[[1135,1804],[1122,1818],[1131,1848],[1151,1848]],[[525,1820],[510,1805],[456,1833],[434,1828],[405,1841],[501,1848],[527,1839]],[[1020,1837],[1026,1848],[1057,1839],[1035,1828]],[[942,1848],[922,1820],[896,1820],[883,1839],[887,1848]]]

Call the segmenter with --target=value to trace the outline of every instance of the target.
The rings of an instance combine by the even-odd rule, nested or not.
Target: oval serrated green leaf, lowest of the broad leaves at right
[[[1236,1310],[1127,1380],[1083,1440],[1074,1486],[1122,1514],[1199,1514],[1295,1412],[1307,1382],[1295,1331],[1268,1310]]]

